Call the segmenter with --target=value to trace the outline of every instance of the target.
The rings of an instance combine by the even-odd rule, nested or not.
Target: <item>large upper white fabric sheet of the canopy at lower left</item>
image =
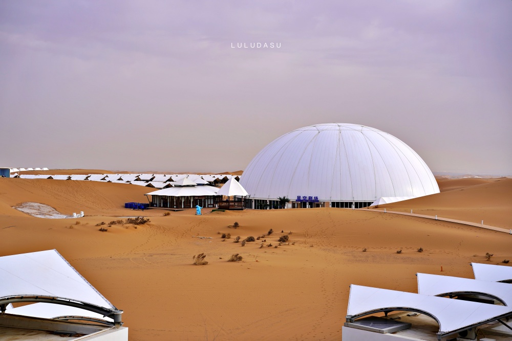
[[[0,257],[0,299],[38,295],[115,308],[56,250]]]

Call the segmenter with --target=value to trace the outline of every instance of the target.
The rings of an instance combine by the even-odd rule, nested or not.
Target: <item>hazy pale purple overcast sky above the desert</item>
[[[510,0],[1,1],[0,165],[236,171],[338,122],[434,172],[509,175],[510,18]]]

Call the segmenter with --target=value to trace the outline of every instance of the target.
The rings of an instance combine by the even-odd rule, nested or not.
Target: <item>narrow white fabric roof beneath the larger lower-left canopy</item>
[[[51,303],[34,303],[22,307],[12,308],[6,311],[8,314],[41,317],[42,319],[53,319],[59,316],[84,316],[94,317],[95,319],[108,319],[112,321],[110,317],[103,317],[103,315],[75,307],[65,306],[61,304]]]

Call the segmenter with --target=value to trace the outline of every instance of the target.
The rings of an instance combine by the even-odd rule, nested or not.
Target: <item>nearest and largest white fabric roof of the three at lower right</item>
[[[512,313],[511,307],[353,284],[350,286],[348,316],[383,308],[411,308],[427,312],[438,321],[439,332],[442,334]]]

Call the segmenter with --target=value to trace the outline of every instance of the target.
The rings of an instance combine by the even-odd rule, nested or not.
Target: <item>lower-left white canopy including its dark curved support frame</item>
[[[2,311],[9,303],[51,303],[92,311],[121,323],[122,310],[106,300],[55,249],[0,257],[0,278]]]

